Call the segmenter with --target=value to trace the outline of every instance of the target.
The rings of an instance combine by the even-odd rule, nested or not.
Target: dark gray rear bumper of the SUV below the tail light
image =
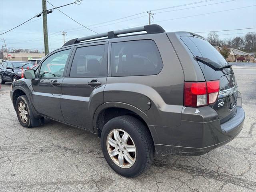
[[[197,114],[196,109],[200,111]],[[180,126],[154,126],[158,136],[155,141],[156,154],[205,154],[233,140],[242,130],[244,118],[241,95],[238,98],[236,114],[223,124],[220,124],[218,114],[209,106],[184,108]]]

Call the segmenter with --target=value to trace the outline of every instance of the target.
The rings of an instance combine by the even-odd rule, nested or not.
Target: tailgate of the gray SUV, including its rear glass
[[[221,124],[228,121],[236,113],[238,92],[232,68],[221,68],[228,65],[228,62],[208,41],[189,36],[181,36],[180,38],[189,48],[190,54],[194,56],[195,60],[196,58],[202,58],[207,61],[197,60],[205,80],[220,80],[220,93],[217,102],[210,106],[218,113]],[[218,67],[221,69],[218,69]]]

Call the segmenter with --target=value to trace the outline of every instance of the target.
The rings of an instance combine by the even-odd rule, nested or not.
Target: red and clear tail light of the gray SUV
[[[218,98],[220,81],[185,82],[184,106],[199,107],[213,104]]]

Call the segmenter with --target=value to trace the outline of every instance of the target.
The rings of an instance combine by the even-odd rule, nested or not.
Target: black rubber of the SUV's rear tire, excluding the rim
[[[108,154],[107,137],[114,129],[122,129],[127,132],[136,146],[136,160],[129,168],[121,168],[116,165]],[[154,157],[154,142],[148,128],[133,116],[119,116],[109,120],[101,133],[101,146],[104,157],[110,167],[118,174],[127,178],[133,178],[142,174],[150,166]]]

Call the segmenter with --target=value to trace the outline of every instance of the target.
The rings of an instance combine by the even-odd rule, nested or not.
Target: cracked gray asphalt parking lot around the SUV
[[[116,174],[106,163],[99,138],[54,121],[23,128],[0,89],[0,191],[256,191],[256,68],[234,66],[246,119],[232,142],[202,156],[155,159],[137,178]]]

